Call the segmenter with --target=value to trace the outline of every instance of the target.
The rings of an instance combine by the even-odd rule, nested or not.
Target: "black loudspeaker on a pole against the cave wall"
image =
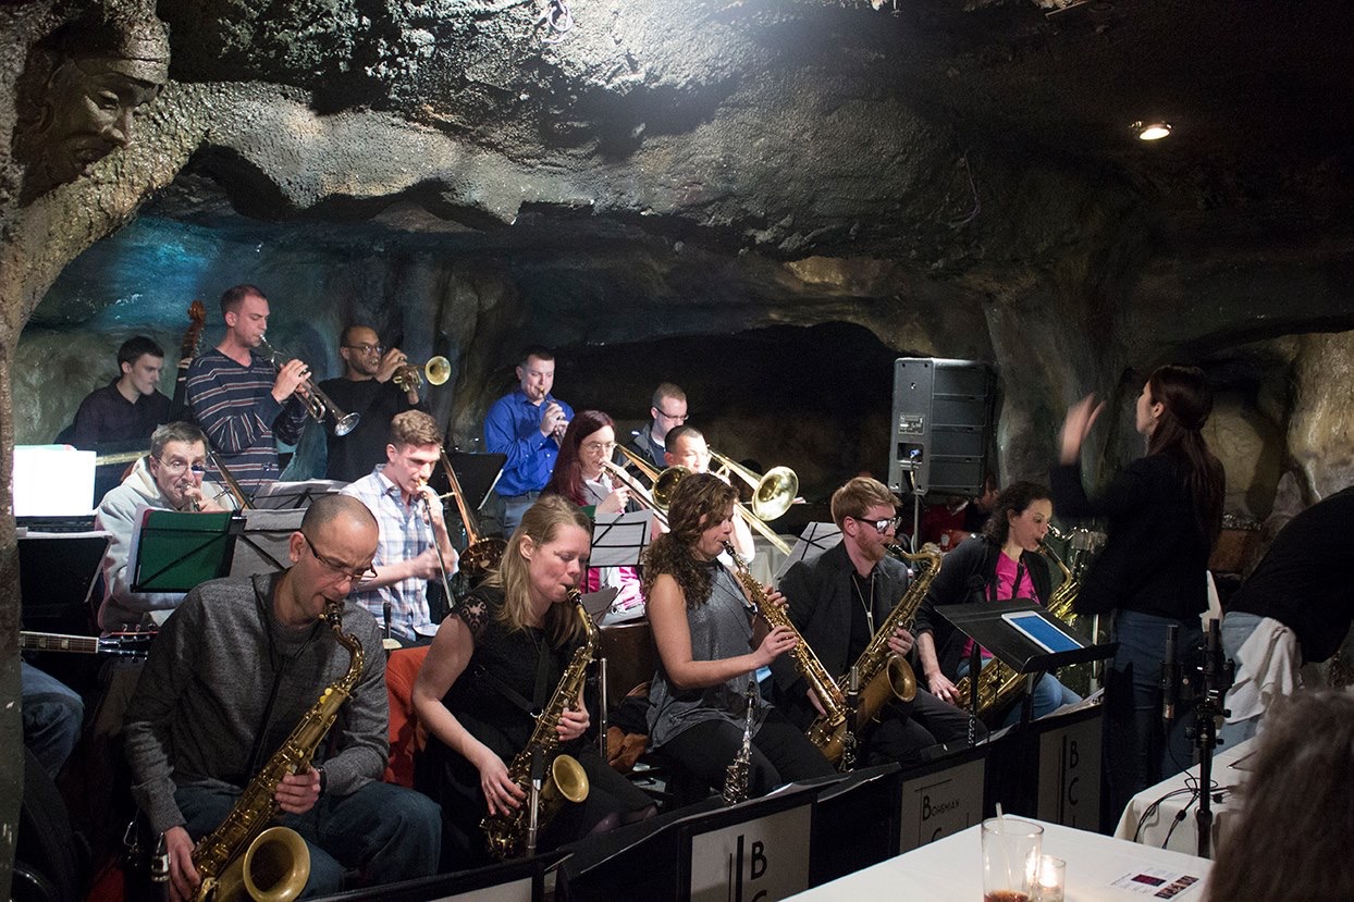
[[[991,367],[978,360],[895,360],[888,488],[982,494],[994,387]]]

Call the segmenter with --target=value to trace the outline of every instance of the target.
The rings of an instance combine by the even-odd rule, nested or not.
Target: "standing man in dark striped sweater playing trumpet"
[[[279,475],[276,439],[291,444],[306,425],[301,360],[282,368],[255,352],[268,330],[268,298],[252,284],[221,295],[226,337],[188,368],[188,405],[218,458],[248,494]]]

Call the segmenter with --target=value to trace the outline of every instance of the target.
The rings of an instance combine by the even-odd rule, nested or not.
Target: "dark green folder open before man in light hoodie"
[[[242,521],[230,512],[145,509],[131,539],[133,592],[187,592],[230,573]]]

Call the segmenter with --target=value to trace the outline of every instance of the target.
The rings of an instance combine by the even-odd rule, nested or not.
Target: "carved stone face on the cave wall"
[[[51,184],[62,184],[131,142],[137,108],[154,100],[160,84],[134,77],[150,66],[126,60],[66,60],[51,76],[39,165]]]

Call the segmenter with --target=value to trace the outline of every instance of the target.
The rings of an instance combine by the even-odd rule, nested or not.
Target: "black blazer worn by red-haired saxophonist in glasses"
[[[850,656],[852,605],[858,604],[852,588],[856,565],[846,555],[846,546],[838,543],[811,561],[800,561],[780,581],[780,592],[788,603],[789,622],[814,650],[823,668],[834,679],[846,673],[854,661]],[[875,565],[875,623],[884,619],[907,590],[907,567],[895,558],[886,557]],[[804,726],[816,711],[808,702],[808,684],[788,654],[772,662],[776,679],[776,704],[796,725]]]

